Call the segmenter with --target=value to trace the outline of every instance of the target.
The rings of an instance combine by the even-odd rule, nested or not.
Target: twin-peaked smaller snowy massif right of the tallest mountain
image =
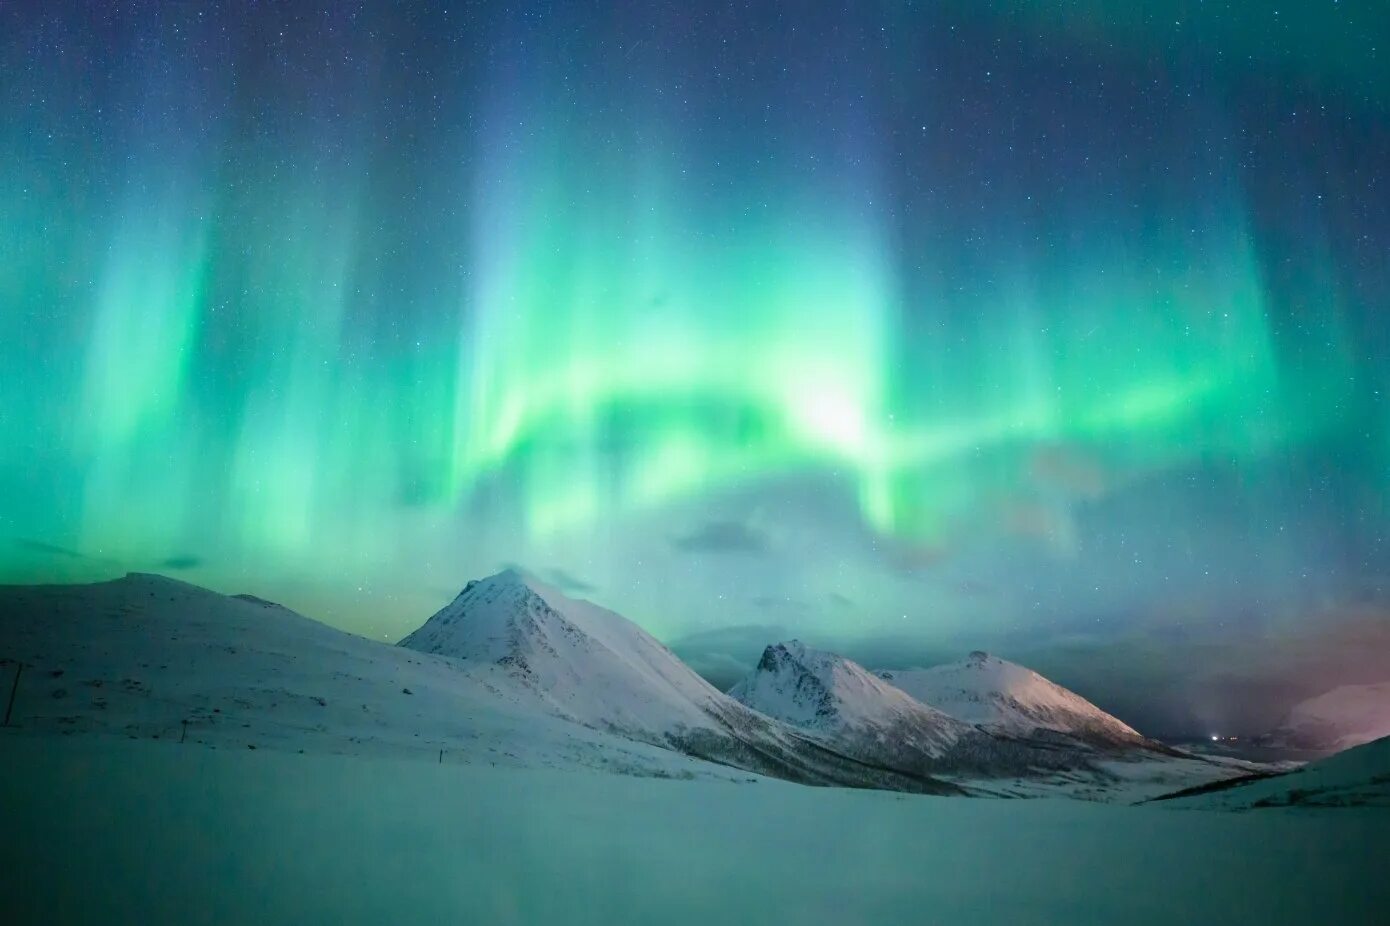
[[[899,687],[903,676],[910,687]],[[1145,740],[1084,698],[984,653],[963,666],[873,673],[790,641],[767,647],[730,695],[838,752],[972,794],[1133,801],[1258,767]]]

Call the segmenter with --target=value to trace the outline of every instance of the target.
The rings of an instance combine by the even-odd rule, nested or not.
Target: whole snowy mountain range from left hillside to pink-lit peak
[[[796,641],[730,694],[637,624],[514,570],[399,645],[157,576],[0,587],[14,726],[215,747],[933,794],[1136,799],[1248,770],[1145,740],[984,653],[870,672]]]

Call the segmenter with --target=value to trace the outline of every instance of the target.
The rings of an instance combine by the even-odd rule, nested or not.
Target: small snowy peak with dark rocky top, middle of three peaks
[[[770,717],[831,737],[858,755],[937,759],[973,733],[859,663],[796,640],[767,647],[753,672],[728,694]]]

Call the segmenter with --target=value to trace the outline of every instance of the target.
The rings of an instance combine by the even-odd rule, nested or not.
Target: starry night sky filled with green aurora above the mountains
[[[0,580],[1380,681],[1390,11],[1279,6],[0,3]]]

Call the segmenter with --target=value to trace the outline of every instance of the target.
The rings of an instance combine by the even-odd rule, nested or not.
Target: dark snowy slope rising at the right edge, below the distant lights
[[[1276,774],[1205,794],[1165,801],[1188,809],[1269,806],[1377,806],[1390,809],[1390,737]]]

